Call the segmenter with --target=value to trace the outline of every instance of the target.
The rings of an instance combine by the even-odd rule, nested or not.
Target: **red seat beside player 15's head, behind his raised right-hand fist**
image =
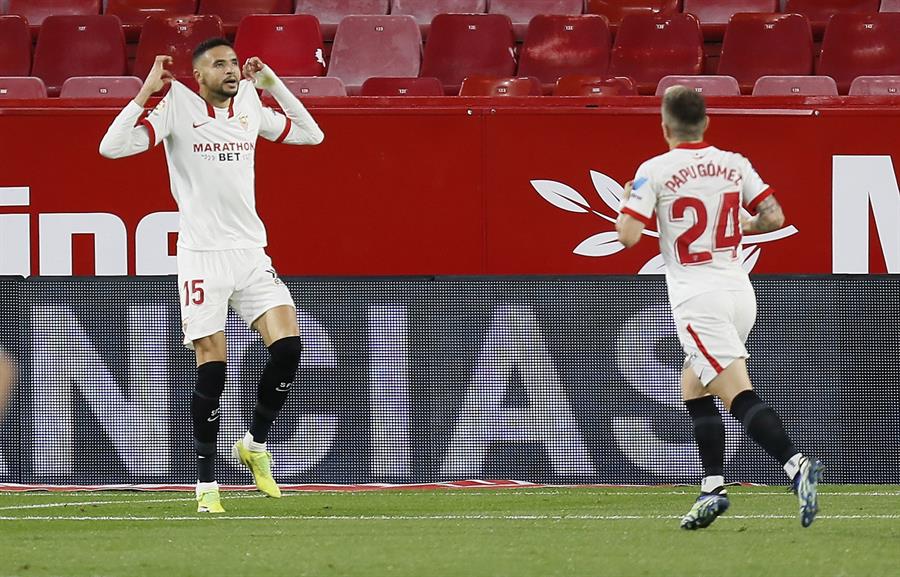
[[[279,76],[325,74],[319,21],[309,14],[246,16],[238,26],[234,50],[241,63],[259,56]]]

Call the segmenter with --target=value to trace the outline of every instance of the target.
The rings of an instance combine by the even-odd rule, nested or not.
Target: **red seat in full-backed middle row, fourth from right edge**
[[[518,74],[536,76],[550,93],[560,76],[604,76],[611,50],[603,16],[535,16],[519,51]]]

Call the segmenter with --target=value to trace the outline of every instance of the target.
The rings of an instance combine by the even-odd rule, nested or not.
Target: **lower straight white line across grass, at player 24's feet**
[[[796,519],[796,515],[727,515],[720,519]],[[203,515],[186,517],[137,517],[137,516],[5,516],[0,521],[621,521],[621,520],[672,520],[681,515]],[[880,519],[896,520],[900,515],[819,515],[816,519]]]

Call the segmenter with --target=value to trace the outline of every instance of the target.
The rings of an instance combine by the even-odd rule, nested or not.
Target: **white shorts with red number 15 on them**
[[[184,345],[225,330],[228,306],[247,326],[294,299],[262,248],[194,251],[178,248],[178,293]]]

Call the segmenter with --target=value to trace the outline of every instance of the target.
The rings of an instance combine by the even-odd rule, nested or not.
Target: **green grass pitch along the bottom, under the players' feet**
[[[0,493],[0,576],[887,576],[900,574],[900,487],[821,487],[797,519],[782,487],[732,488],[683,531],[693,488]]]

